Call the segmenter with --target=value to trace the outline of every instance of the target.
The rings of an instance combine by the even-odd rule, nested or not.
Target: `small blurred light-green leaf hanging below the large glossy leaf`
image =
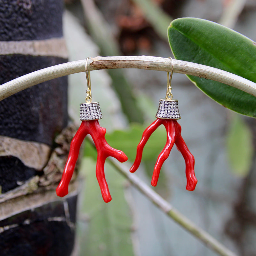
[[[252,166],[252,132],[238,115],[234,116],[230,124],[227,151],[232,171],[239,176],[246,176]]]

